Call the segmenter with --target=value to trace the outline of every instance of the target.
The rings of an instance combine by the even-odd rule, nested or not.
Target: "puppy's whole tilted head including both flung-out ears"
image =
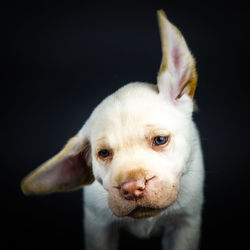
[[[107,97],[83,128],[22,182],[25,194],[68,191],[95,179],[117,216],[144,218],[173,204],[190,156],[197,74],[181,33],[158,12],[157,85],[130,83]]]

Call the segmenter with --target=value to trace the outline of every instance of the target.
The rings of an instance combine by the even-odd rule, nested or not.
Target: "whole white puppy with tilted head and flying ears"
[[[85,186],[87,250],[117,249],[120,228],[142,238],[162,234],[166,250],[198,248],[204,172],[192,121],[195,60],[165,13],[157,15],[157,85],[133,82],[108,96],[21,184],[27,195]]]

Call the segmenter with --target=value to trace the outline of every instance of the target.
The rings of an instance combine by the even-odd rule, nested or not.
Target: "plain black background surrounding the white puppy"
[[[21,2],[21,1],[20,1]],[[197,60],[206,164],[201,249],[243,249],[249,213],[249,12],[239,1],[46,2],[1,7],[1,249],[83,249],[81,191],[25,197],[21,179],[130,81],[156,82],[156,10]],[[219,4],[221,3],[221,4]],[[125,249],[159,247],[123,234]]]

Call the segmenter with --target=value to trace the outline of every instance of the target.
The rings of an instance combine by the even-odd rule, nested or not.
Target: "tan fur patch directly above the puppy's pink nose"
[[[129,180],[136,180],[139,178],[145,178],[147,176],[148,171],[144,168],[135,168],[130,169],[128,171],[119,172],[119,174],[115,177],[115,181],[118,184]]]

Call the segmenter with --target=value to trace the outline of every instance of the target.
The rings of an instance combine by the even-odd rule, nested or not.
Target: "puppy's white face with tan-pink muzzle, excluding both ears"
[[[93,173],[115,215],[151,216],[176,200],[190,154],[192,101],[186,101],[182,110],[156,86],[132,83],[92,114]]]

